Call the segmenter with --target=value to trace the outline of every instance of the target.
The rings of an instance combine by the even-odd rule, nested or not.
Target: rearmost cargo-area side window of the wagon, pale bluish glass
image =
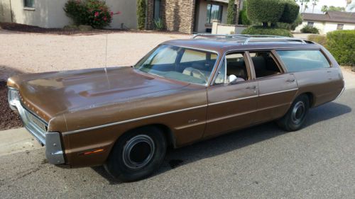
[[[320,50],[278,50],[288,72],[329,68],[330,64]]]

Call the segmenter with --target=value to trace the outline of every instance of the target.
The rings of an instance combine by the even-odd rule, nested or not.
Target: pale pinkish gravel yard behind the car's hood
[[[128,66],[160,42],[190,38],[174,33],[119,32],[97,35],[18,33],[0,29],[0,80],[34,73],[105,66]]]

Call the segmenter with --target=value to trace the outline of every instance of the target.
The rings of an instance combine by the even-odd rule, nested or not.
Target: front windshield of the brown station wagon
[[[168,79],[207,84],[216,59],[214,52],[160,45],[143,57],[135,68]]]

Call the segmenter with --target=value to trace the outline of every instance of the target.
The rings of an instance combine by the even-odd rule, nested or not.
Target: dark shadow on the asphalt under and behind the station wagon
[[[351,108],[349,106],[345,106],[344,104],[334,102],[327,103],[324,106],[310,110],[304,127],[309,127],[320,121],[337,118],[340,115],[344,115],[350,112]],[[178,166],[189,164],[194,161],[199,161],[200,159],[206,159],[209,157],[218,156],[219,154],[231,152],[251,144],[256,144],[258,142],[283,135],[285,133],[292,132],[285,132],[280,130],[280,128],[272,122],[258,125],[256,127],[250,127],[245,130],[231,132],[227,135],[222,135],[211,140],[198,142],[197,144],[192,144],[187,147],[170,149],[165,157],[163,165],[157,172],[155,172],[153,176],[168,172]],[[106,178],[110,184],[120,183],[119,181],[116,181],[114,178],[109,176],[103,166],[97,166],[92,169],[94,169],[94,171],[96,171],[102,177]]]

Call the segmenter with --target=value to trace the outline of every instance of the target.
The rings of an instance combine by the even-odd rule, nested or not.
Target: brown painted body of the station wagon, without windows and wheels
[[[182,147],[280,118],[302,93],[312,96],[312,106],[320,106],[334,100],[344,88],[339,65],[317,44],[239,45],[233,40],[204,39],[163,44],[217,52],[208,84],[187,84],[132,67],[112,67],[13,76],[8,86],[18,89],[23,106],[48,123],[48,132],[61,132],[65,162],[70,166],[104,164],[116,140],[137,127],[163,126],[173,146]],[[321,50],[332,67],[288,73],[275,54],[275,50],[305,49]],[[249,51],[255,50],[271,50],[284,73],[256,79],[249,57]],[[227,52],[246,53],[250,80],[213,84]],[[104,151],[82,155],[94,149]]]

